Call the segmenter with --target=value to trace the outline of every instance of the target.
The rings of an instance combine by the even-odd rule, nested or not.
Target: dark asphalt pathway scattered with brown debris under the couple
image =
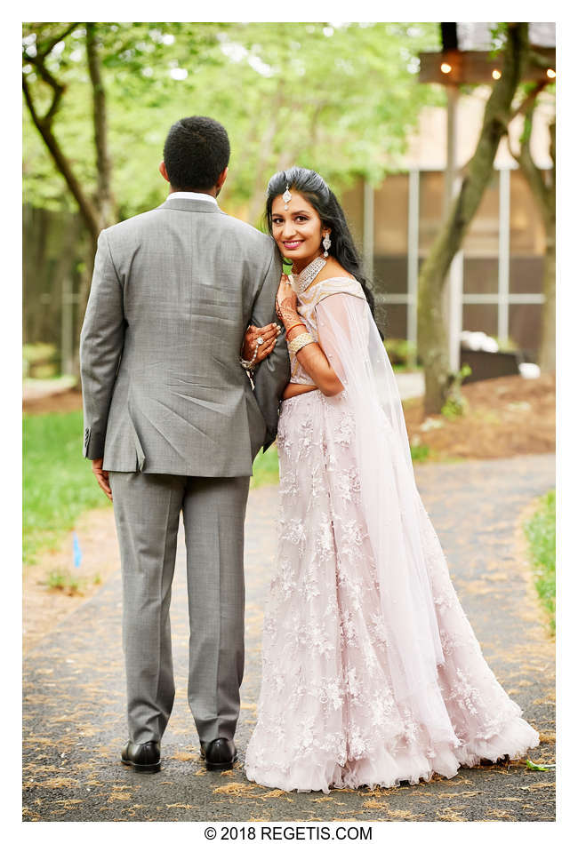
[[[425,506],[487,661],[541,733],[533,760],[554,761],[554,642],[535,601],[521,514],[554,485],[554,455],[418,467]],[[451,780],[395,789],[285,793],[247,782],[245,747],[261,682],[262,608],[275,561],[277,489],[252,490],[245,538],[246,663],[239,763],[207,773],[186,697],[184,545],[173,586],[177,693],[163,769],[138,776],[125,740],[121,592],[116,573],[31,650],[24,665],[23,818],[27,821],[553,821],[554,773],[462,768]],[[114,529],[111,522],[111,529]],[[272,752],[275,749],[272,748]]]

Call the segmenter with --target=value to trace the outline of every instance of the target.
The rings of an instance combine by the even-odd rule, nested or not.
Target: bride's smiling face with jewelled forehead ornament
[[[271,205],[272,234],[284,258],[293,260],[299,272],[306,267],[323,248],[321,241],[325,229],[317,211],[304,196],[291,191],[291,200],[285,202],[283,196],[276,196]]]

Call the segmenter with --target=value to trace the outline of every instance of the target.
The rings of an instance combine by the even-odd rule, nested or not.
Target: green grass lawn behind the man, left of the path
[[[111,505],[82,456],[80,410],[25,415],[23,426],[23,561],[29,564],[57,545],[84,510]],[[255,459],[251,486],[278,480],[277,448],[271,446]]]

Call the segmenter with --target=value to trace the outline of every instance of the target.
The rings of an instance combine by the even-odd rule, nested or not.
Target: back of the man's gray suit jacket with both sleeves
[[[274,241],[174,199],[100,233],[80,338],[84,457],[116,472],[234,477],[277,433],[285,337],[255,375],[247,325],[275,321]]]

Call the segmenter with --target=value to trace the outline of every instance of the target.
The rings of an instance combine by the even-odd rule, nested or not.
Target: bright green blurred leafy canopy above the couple
[[[23,64],[36,97],[49,92],[31,53],[65,23],[25,24]],[[65,84],[55,133],[93,188],[92,99],[84,24],[49,56]],[[99,23],[113,187],[122,216],[162,201],[157,173],[168,127],[211,115],[229,131],[223,201],[256,219],[270,175],[293,163],[320,171],[339,191],[399,165],[423,105],[441,94],[418,82],[417,54],[438,49],[435,23]],[[63,179],[24,114],[29,202],[74,208]]]

